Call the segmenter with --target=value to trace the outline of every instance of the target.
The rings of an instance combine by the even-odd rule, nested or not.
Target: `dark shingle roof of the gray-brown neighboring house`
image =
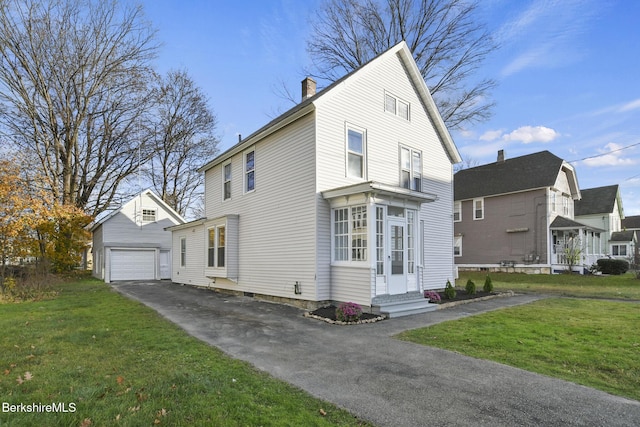
[[[463,169],[454,175],[454,198],[466,200],[552,187],[562,163],[560,157],[545,150],[501,163]]]

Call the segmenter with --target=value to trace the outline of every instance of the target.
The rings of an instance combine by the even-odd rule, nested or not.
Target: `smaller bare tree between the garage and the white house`
[[[154,154],[146,172],[162,200],[187,215],[204,184],[197,168],[217,152],[216,116],[186,71],[170,71],[154,94]]]

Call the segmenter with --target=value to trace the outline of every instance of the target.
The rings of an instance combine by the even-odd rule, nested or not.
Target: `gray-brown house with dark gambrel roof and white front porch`
[[[575,169],[549,151],[505,159],[500,150],[495,163],[458,171],[454,189],[461,269],[582,271],[597,259],[603,230],[575,220]]]

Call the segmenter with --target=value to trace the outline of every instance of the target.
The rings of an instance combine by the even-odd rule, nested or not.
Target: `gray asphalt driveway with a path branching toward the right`
[[[393,338],[534,295],[338,326],[293,307],[169,282],[112,285],[191,335],[377,426],[640,425],[640,402]]]

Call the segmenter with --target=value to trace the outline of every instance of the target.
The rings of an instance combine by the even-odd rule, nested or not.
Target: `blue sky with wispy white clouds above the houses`
[[[293,105],[283,83],[299,97],[318,3],[144,1],[158,70],[187,70],[208,95],[221,149]],[[478,70],[498,82],[496,107],[452,132],[462,157],[549,150],[572,162],[581,188],[619,184],[625,214],[640,215],[640,2],[482,0],[479,12],[500,44]]]

